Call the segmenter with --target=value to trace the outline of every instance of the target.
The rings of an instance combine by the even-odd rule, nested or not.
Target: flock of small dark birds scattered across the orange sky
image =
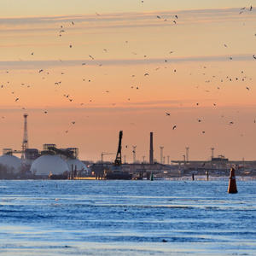
[[[142,1],[142,3],[143,3],[143,1]],[[243,12],[245,12],[246,10],[252,11],[252,10],[253,10],[253,6],[249,7],[248,9],[247,9],[246,7],[241,8],[241,11],[239,12],[239,15],[241,15],[241,14],[242,14]],[[100,15],[100,14],[98,14],[98,13],[96,13],[96,15],[99,16],[99,18],[102,16],[102,15]],[[167,21],[167,19],[162,19],[162,17],[161,17],[160,15],[156,15],[156,19],[158,19],[158,20],[163,20],[163,21]],[[178,17],[177,15],[172,16],[172,23],[173,23],[175,26],[178,25],[178,20],[179,20],[179,17]],[[75,24],[74,21],[71,21],[71,25],[72,25],[72,26],[75,26],[76,24]],[[64,35],[65,33],[66,33],[66,30],[65,30],[64,26],[61,26],[58,36],[59,36],[59,37],[63,37],[63,35]],[[255,36],[256,36],[256,34],[255,34]],[[125,40],[125,44],[129,44],[129,41],[128,41],[128,40]],[[228,44],[223,44],[223,45],[224,45],[224,48],[229,48],[229,45],[228,45]],[[70,48],[70,49],[73,49],[73,44],[69,44],[69,48]],[[108,49],[102,49],[102,50],[103,50],[105,53],[108,53]],[[174,50],[169,50],[169,51],[168,51],[168,54],[170,55],[170,54],[172,54],[173,52],[174,52]],[[134,51],[133,51],[132,54],[133,54],[133,55],[137,55],[137,52],[134,52]],[[32,52],[31,55],[34,56],[34,55],[36,55],[36,53],[35,53],[35,52]],[[96,60],[93,55],[88,55],[88,57],[90,58],[91,61],[95,61],[95,60]],[[147,55],[143,55],[143,57],[146,58]],[[253,59],[256,60],[256,55],[252,55],[252,57],[253,57]],[[229,59],[230,59],[230,61],[232,61],[232,60],[233,60],[233,57],[230,56]],[[61,59],[59,59],[59,61],[62,62]],[[166,63],[166,62],[168,62],[168,59],[164,59],[164,60],[163,60],[163,64]],[[83,61],[83,62],[81,63],[81,66],[86,66],[86,62]],[[102,64],[99,64],[99,66],[101,67]],[[206,68],[207,68],[206,66],[201,66],[201,67],[202,67],[203,69],[206,69]],[[156,70],[156,71],[160,70],[160,67],[156,67],[155,70]],[[173,69],[173,73],[176,73],[176,72],[177,72],[177,68],[174,68],[174,69]],[[9,72],[6,72],[6,73],[9,73]],[[43,68],[43,69],[39,69],[39,70],[38,70],[38,73],[43,73],[44,75],[45,75],[45,74],[46,74],[46,75],[49,74],[49,72],[45,71],[44,68]],[[225,80],[226,80],[226,81],[230,81],[230,82],[240,80],[241,82],[244,82],[244,83],[246,84],[247,80],[250,79],[250,78],[247,77],[247,76],[245,76],[245,75],[243,75],[243,73],[244,73],[244,72],[241,71],[241,74],[242,74],[241,77],[231,78],[231,77],[227,76],[227,77],[225,78]],[[205,73],[203,73],[203,74],[205,75]],[[61,73],[61,75],[64,75],[64,73]],[[149,76],[150,76],[150,73],[144,73],[143,76],[144,76],[144,77],[149,77]],[[131,77],[135,77],[135,75],[132,74]],[[43,79],[44,79],[44,78],[43,78]],[[215,76],[212,76],[212,79],[216,79]],[[208,84],[208,83],[211,83],[211,82],[212,82],[212,79],[207,79],[205,82],[206,82],[207,84]],[[91,82],[91,79],[83,79],[83,81],[90,83],[90,82]],[[8,82],[8,83],[9,83],[9,82]],[[60,80],[55,81],[55,85],[61,85],[61,83],[62,83],[62,80],[61,80],[61,81],[60,81]],[[221,79],[221,80],[219,81],[219,83],[224,83],[224,79]],[[22,85],[24,85],[24,84],[22,84]],[[27,85],[27,87],[29,87],[29,86],[30,86],[30,85]],[[3,84],[1,85],[1,88],[3,88]],[[132,85],[132,86],[131,86],[131,89],[139,90],[139,86]],[[217,89],[220,90],[220,87],[218,86]],[[247,86],[247,85],[245,85],[245,89],[246,89],[246,90],[250,90],[249,86]],[[110,90],[105,90],[105,92],[106,92],[106,93],[110,93]],[[210,90],[205,90],[205,92],[210,92]],[[15,93],[13,92],[13,94],[15,94]],[[73,97],[71,97],[70,94],[64,94],[63,96],[67,99],[67,101],[73,102]],[[130,101],[130,97],[128,97],[127,100]],[[20,101],[20,97],[15,97],[15,102],[19,102],[19,101]],[[90,102],[92,102],[91,99],[90,99]],[[212,104],[213,104],[213,107],[216,107],[216,103],[215,103],[215,102],[213,102]],[[84,105],[84,102],[81,102],[80,105]],[[112,105],[115,106],[116,103],[112,103]],[[200,105],[200,103],[199,103],[199,102],[196,102],[196,106],[199,106],[199,105]],[[22,109],[25,109],[25,108],[22,107]],[[47,114],[48,111],[44,110],[44,113]],[[170,116],[171,116],[171,112],[166,112],[166,116],[167,116],[167,117],[170,117]],[[4,118],[4,117],[2,117],[2,118]],[[196,121],[199,122],[199,123],[202,122],[201,119],[196,119]],[[75,125],[76,123],[77,123],[76,120],[72,120],[72,121],[71,121],[71,124],[72,124],[72,125]],[[255,123],[255,120],[254,120],[254,123]],[[233,122],[233,121],[230,121],[229,125],[234,125],[234,122]],[[172,125],[172,131],[174,131],[174,130],[176,130],[176,129],[178,129],[178,126],[177,126],[177,125]],[[65,131],[65,132],[67,133],[68,130]],[[201,131],[201,132],[202,132],[203,134],[206,133],[206,131]]]

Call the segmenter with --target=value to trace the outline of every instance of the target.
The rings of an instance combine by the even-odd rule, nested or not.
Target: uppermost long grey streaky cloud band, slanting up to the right
[[[244,12],[239,15],[239,8],[230,9],[185,9],[185,10],[163,10],[154,12],[127,12],[127,13],[106,13],[98,16],[96,14],[85,15],[57,15],[57,16],[35,16],[35,17],[9,17],[0,18],[0,31],[58,29],[65,28],[114,28],[114,27],[135,27],[135,26],[170,26],[173,25],[175,15],[178,16],[177,23],[207,23],[236,20],[255,20],[251,12]],[[159,16],[161,19],[157,19]],[[166,20],[166,22],[162,21]],[[75,26],[72,25],[72,21]]]

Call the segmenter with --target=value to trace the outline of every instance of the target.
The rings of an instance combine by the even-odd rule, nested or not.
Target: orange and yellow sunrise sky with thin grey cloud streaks
[[[9,0],[0,5],[0,148],[80,160],[255,160],[254,1]],[[253,57],[255,55],[255,58]],[[73,122],[75,122],[73,124]],[[172,129],[176,125],[176,128]],[[105,155],[113,160],[115,155]]]

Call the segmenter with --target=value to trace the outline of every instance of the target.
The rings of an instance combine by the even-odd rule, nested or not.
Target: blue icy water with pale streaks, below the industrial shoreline
[[[0,181],[2,255],[256,255],[256,181]]]

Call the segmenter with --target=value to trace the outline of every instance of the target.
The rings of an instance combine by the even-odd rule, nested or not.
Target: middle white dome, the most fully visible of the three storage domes
[[[68,171],[68,167],[60,157],[46,154],[34,160],[30,171],[36,175],[49,175],[50,172],[52,174],[62,174]]]

